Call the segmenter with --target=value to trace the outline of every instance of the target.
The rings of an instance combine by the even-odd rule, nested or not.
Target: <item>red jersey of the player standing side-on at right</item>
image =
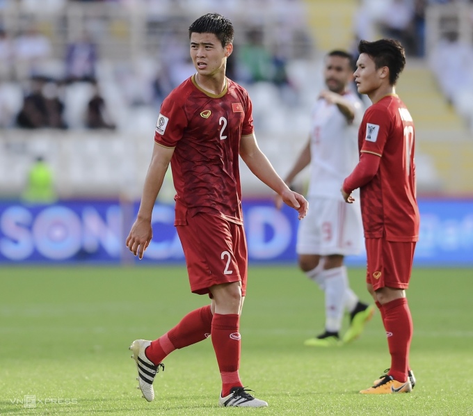
[[[360,152],[381,157],[378,172],[360,188],[364,237],[417,241],[414,123],[397,95],[387,95],[364,113]]]

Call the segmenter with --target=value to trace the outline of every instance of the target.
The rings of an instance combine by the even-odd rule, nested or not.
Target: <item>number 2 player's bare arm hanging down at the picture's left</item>
[[[173,153],[174,148],[154,144],[143,186],[140,209],[127,238],[127,247],[134,255],[138,255],[139,259],[143,259],[143,253],[153,237],[151,215]]]

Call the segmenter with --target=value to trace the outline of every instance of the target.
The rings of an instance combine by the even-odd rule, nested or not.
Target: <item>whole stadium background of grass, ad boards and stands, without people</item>
[[[266,415],[472,414],[473,384],[467,376],[473,367],[473,105],[467,83],[473,74],[467,58],[472,6],[445,0],[401,3],[426,6],[425,21],[416,20],[418,29],[425,23],[420,32],[425,50],[410,45],[397,88],[417,127],[422,231],[408,291],[415,323],[410,363],[417,385],[407,396],[358,394],[389,366],[379,314],[350,345],[303,345],[323,324],[323,292],[298,270],[294,212],[276,211],[271,193],[243,165],[250,296],[241,317],[240,374],[268,401]],[[44,60],[38,60],[38,49],[44,48],[39,42],[38,49],[26,48],[27,56],[34,52],[33,61],[9,61],[0,34],[1,414],[222,415],[209,340],[166,358],[153,403],[136,391],[136,368],[127,350],[133,339],[155,339],[206,302],[189,291],[172,225],[169,181],[154,210],[155,237],[145,259],[138,262],[125,250],[159,111],[150,81],[171,62],[174,81],[189,71],[182,59],[188,52],[186,29],[202,13],[232,17],[235,52],[243,49],[248,27],[262,29],[266,48],[280,45],[277,50],[287,58],[291,87],[248,79],[245,85],[255,106],[259,144],[284,175],[307,137],[310,108],[322,86],[323,55],[332,48],[352,49],[356,33],[369,34],[367,29],[374,38],[382,35],[380,20],[397,16],[387,12],[393,5],[399,1],[0,0],[0,29],[7,38],[17,40],[34,27],[50,45]],[[58,85],[67,129],[20,129],[15,116],[29,91],[29,65],[47,79],[51,95],[51,81],[64,77],[67,44],[84,27],[99,47],[97,79],[117,128],[85,127],[90,83],[76,81]],[[412,26],[409,31],[406,39],[412,41]],[[461,54],[435,60],[451,31],[459,33],[463,48],[443,52]],[[457,72],[434,63],[456,64],[449,69]],[[442,80],[458,81],[456,97],[447,97],[439,69]],[[24,199],[38,155],[53,170],[54,203]],[[306,180],[301,175],[295,185],[304,189]],[[351,287],[367,299],[364,256],[348,263]],[[345,319],[342,332],[347,325]]]

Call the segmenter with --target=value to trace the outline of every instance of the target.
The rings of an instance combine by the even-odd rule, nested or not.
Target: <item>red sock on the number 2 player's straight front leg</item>
[[[214,314],[212,319],[212,344],[222,378],[222,397],[228,396],[232,387],[243,387],[238,374],[241,346],[239,326],[239,314]]]

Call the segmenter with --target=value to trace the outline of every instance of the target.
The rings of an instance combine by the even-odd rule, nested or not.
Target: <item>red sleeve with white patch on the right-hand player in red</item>
[[[390,134],[390,123],[390,114],[385,109],[368,109],[361,125],[364,139],[360,152],[382,156],[387,136]]]

